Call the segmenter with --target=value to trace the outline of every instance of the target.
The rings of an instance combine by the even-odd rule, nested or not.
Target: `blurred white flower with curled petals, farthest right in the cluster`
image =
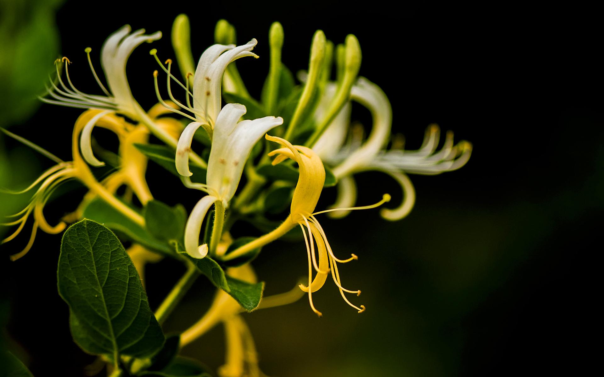
[[[333,86],[333,84],[330,84]],[[356,101],[370,110],[373,127],[368,138],[362,141],[362,131],[353,132],[352,140],[344,145],[347,124],[350,118],[350,108],[344,108],[332,121],[325,133],[313,145],[323,159],[334,166],[333,174],[338,179],[338,198],[333,207],[350,207],[356,201],[356,183],[353,174],[362,171],[381,171],[388,174],[402,188],[403,201],[394,209],[382,209],[381,215],[387,220],[400,220],[405,217],[415,202],[415,191],[406,173],[411,174],[440,174],[461,168],[470,157],[472,145],[467,141],[453,143],[453,133],[448,131],[440,151],[436,152],[439,144],[439,127],[432,124],[426,130],[422,147],[417,151],[402,150],[396,145],[391,150],[384,150],[388,143],[392,125],[392,108],[385,93],[366,78],[359,78],[351,90],[351,100]],[[321,99],[315,116],[321,118],[323,107],[328,106],[329,86],[326,95]],[[355,129],[353,128],[353,131]],[[350,211],[336,211],[332,217],[344,217]]]

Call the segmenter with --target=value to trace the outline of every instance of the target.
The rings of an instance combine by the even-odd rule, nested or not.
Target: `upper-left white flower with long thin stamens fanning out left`
[[[40,98],[43,102],[50,104],[59,104],[80,109],[105,110],[103,113],[92,118],[91,121],[86,124],[86,127],[82,130],[82,134],[80,135],[82,156],[86,162],[92,166],[104,165],[103,162],[94,157],[91,146],[92,129],[99,119],[110,113],[121,113],[135,121],[141,121],[146,117],[143,108],[132,96],[132,91],[130,90],[126,78],[126,63],[130,54],[132,54],[132,51],[140,46],[141,43],[153,42],[154,40],[160,39],[161,31],[153,34],[144,34],[144,29],[134,31],[133,33],[130,33],[130,31],[130,25],[121,27],[120,30],[115,31],[115,33],[108,37],[101,48],[101,66],[103,67],[109,90],[101,83],[97,72],[94,70],[94,66],[92,66],[92,60],[90,58],[91,48],[86,48],[85,50],[88,55],[88,63],[92,75],[94,75],[98,86],[100,86],[105,95],[90,95],[76,89],[69,77],[68,66],[71,62],[66,57],[63,57],[62,60],[65,62],[65,76],[69,87],[65,85],[65,82],[62,80],[59,72],[59,65],[57,64],[57,80],[60,87],[57,86],[53,80],[50,80],[51,87],[47,87],[47,92],[52,99]]]

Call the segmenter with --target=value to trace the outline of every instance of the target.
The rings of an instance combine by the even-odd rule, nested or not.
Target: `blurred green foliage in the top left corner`
[[[54,21],[63,0],[0,1],[0,127],[31,116],[58,57]]]

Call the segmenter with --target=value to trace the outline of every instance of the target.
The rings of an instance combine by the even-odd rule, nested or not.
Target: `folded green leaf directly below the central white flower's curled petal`
[[[264,291],[265,286],[264,282],[252,284],[235,279],[234,277],[225,274],[222,267],[209,256],[202,259],[191,258],[187,253],[180,251],[184,250],[181,245],[176,244],[176,242],[173,242],[173,245],[176,247],[176,251],[179,255],[182,255],[193,262],[195,267],[197,267],[202,274],[207,276],[212,284],[230,294],[233,299],[239,302],[239,305],[241,305],[243,309],[249,312],[258,308],[260,300],[262,300],[262,292]]]

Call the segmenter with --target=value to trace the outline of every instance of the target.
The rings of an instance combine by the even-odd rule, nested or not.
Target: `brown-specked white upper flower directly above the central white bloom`
[[[178,104],[178,106],[182,107],[182,109],[193,113],[193,116],[179,110],[171,110],[179,113],[180,115],[187,116],[187,118],[193,121],[208,125],[210,130],[214,128],[217,122],[217,116],[219,115],[221,111],[220,108],[222,106],[222,77],[225,74],[226,67],[235,60],[245,56],[257,58],[258,55],[254,54],[254,52],[251,52],[257,43],[257,40],[252,39],[245,45],[241,46],[216,44],[208,47],[201,55],[197,68],[195,69],[192,93],[188,90],[189,80],[185,80],[187,81],[185,86],[172,76],[172,60],[169,59],[166,61],[168,68],[165,68],[156,57],[162,69],[164,69],[164,71],[168,74],[167,89],[170,99]],[[153,50],[152,54],[156,55],[156,51]],[[154,75],[156,94],[159,101],[162,101],[161,96],[159,95],[157,75]],[[170,80],[175,80],[178,84],[184,87],[186,104],[183,104],[174,98],[170,87]],[[192,104],[189,98],[190,96],[192,97]]]

